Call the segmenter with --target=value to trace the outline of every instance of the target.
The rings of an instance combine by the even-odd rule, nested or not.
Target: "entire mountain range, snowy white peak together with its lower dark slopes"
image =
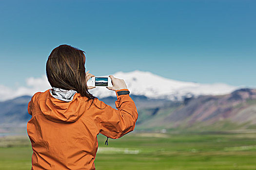
[[[139,113],[137,131],[256,129],[256,89],[179,82],[142,71],[114,76],[123,78],[131,91]],[[91,92],[115,108],[114,91],[98,87]],[[30,100],[31,95],[23,95],[0,102],[0,134],[26,133]]]

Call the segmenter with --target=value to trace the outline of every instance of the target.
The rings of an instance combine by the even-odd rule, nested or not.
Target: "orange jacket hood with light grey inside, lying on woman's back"
[[[88,102],[84,101],[80,93],[74,92],[74,90],[67,92],[66,95],[53,91],[54,89],[48,89],[39,95],[39,108],[43,115],[51,121],[59,123],[77,121],[88,108]]]

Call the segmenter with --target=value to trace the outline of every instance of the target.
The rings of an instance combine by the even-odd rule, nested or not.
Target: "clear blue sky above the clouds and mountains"
[[[151,71],[256,86],[254,0],[0,0],[1,85],[45,74],[60,44],[86,51],[95,75]]]

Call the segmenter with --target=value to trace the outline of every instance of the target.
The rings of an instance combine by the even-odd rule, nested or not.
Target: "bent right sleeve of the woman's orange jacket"
[[[128,89],[120,89],[116,91],[117,101],[116,108],[96,100],[97,109],[95,121],[99,129],[99,133],[107,137],[116,139],[131,132],[135,128],[138,119],[138,111],[135,102],[127,94]]]

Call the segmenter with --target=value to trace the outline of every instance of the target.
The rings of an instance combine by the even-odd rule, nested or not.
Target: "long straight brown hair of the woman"
[[[95,99],[88,91],[85,75],[85,51],[70,45],[56,47],[46,62],[46,75],[52,87],[76,90],[88,100]]]

